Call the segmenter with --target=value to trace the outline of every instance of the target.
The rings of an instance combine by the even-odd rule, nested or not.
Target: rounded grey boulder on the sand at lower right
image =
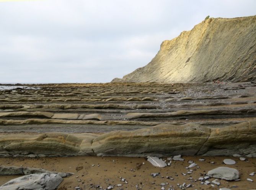
[[[239,179],[239,171],[235,168],[218,167],[210,170],[207,176],[225,180],[236,180]]]

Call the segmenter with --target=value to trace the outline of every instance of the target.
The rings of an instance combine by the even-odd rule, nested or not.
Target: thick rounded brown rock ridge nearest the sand
[[[105,134],[44,133],[0,136],[1,156],[256,156],[256,121],[223,128],[161,124]]]

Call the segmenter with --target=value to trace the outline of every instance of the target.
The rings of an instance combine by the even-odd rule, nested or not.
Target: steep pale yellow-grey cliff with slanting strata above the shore
[[[256,80],[256,16],[209,18],[165,40],[145,67],[112,82]]]

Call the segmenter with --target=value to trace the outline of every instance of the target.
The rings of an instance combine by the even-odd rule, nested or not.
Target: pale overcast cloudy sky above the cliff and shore
[[[0,83],[105,83],[143,67],[206,16],[256,0],[0,0]]]

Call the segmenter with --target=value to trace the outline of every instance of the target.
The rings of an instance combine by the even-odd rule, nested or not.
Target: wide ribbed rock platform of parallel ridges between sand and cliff
[[[0,155],[255,157],[255,105],[254,82],[20,86],[0,91]]]

